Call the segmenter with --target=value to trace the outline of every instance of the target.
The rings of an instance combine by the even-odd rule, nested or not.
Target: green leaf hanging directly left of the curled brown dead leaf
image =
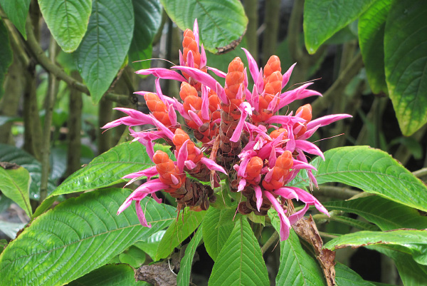
[[[280,220],[275,210],[268,216],[275,230],[280,232]],[[305,252],[294,230],[290,230],[288,240],[280,242],[280,266],[276,285],[326,285],[319,264]]]

